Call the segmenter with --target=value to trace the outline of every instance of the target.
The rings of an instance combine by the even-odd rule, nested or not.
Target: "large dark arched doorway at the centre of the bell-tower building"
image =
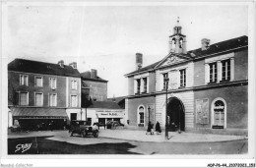
[[[167,104],[168,131],[185,131],[185,108],[177,97],[170,97]]]

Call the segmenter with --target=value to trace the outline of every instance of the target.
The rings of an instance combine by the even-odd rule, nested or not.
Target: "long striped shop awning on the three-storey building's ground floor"
[[[35,108],[35,107],[13,107],[14,119],[66,119],[66,109],[63,108]]]

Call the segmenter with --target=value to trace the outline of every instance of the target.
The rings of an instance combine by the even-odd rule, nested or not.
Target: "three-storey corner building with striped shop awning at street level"
[[[77,64],[15,59],[8,64],[9,127],[63,129],[81,113],[81,77]]]

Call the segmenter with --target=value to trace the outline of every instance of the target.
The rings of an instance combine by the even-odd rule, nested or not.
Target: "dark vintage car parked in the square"
[[[70,136],[72,137],[74,134],[81,135],[83,138],[87,136],[98,137],[98,129],[96,125],[91,125],[88,121],[85,120],[73,120],[70,122],[69,129]]]

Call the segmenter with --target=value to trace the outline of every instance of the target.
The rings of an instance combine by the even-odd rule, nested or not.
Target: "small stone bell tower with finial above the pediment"
[[[186,35],[181,33],[179,17],[177,25],[173,28],[173,34],[169,36],[169,52],[186,54]]]

